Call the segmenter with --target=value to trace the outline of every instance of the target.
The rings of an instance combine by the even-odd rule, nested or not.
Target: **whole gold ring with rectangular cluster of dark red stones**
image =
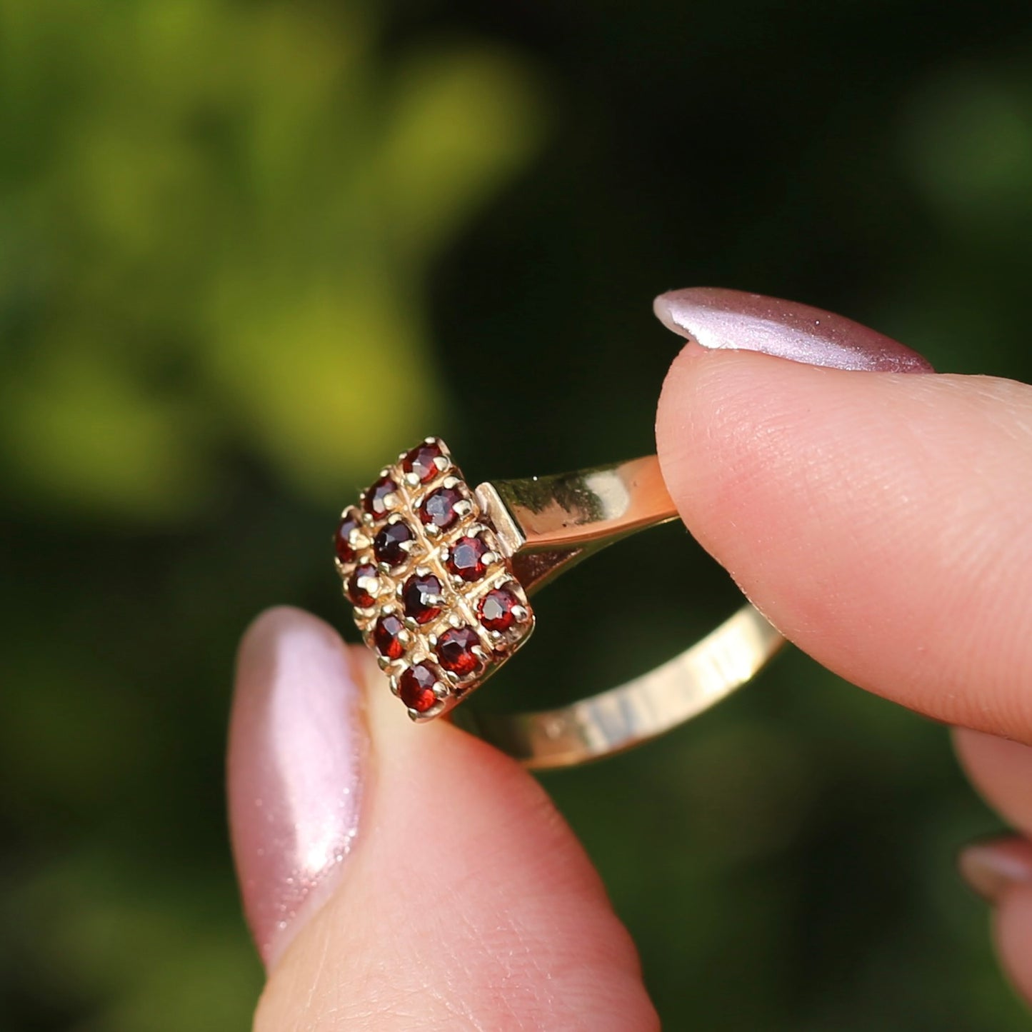
[[[654,455],[472,489],[427,438],[341,515],[335,565],[355,623],[417,721],[451,712],[527,640],[529,596],[606,545],[674,519]],[[648,741],[750,680],[783,644],[746,605],[655,670],[554,710],[461,711],[528,767],[567,767]]]

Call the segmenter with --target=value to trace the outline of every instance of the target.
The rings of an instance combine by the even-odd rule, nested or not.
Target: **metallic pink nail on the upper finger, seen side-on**
[[[660,294],[653,309],[669,329],[712,350],[759,351],[834,369],[934,372],[926,358],[892,337],[776,297],[694,287]]]

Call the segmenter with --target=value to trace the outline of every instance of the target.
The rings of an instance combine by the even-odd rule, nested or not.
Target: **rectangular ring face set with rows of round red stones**
[[[415,720],[454,707],[534,630],[494,527],[439,438],[381,471],[334,543],[355,623]]]

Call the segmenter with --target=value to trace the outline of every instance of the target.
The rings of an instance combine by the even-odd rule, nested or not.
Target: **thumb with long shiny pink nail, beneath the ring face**
[[[292,609],[240,648],[229,807],[269,969],[255,1029],[657,1027],[538,783],[444,721],[412,724],[363,659]]]

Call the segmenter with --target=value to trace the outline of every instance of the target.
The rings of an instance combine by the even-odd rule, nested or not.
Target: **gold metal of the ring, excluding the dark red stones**
[[[439,439],[427,439],[445,449]],[[438,634],[448,625],[473,625],[481,635],[476,652],[484,659],[483,669],[464,678],[449,676],[434,688],[437,702],[425,713],[410,709],[414,719],[427,719],[454,710],[521,645],[534,627],[527,595],[554,577],[620,538],[676,517],[656,457],[615,462],[611,465],[550,477],[484,483],[470,491],[450,457],[439,469],[446,486],[463,492],[460,522],[463,527],[483,533],[491,542],[485,559],[492,571],[483,584],[448,583],[442,615],[426,628],[407,620],[415,636],[406,641],[406,655],[381,666],[391,677],[397,694],[399,675],[413,664],[433,662]],[[397,496],[390,495],[390,508],[418,527],[416,514],[427,491],[388,467],[401,485]],[[431,486],[433,486],[431,484]],[[352,512],[354,510],[351,510]],[[393,516],[388,517],[392,519]],[[352,533],[356,549],[367,548],[376,533],[369,517]],[[421,567],[408,567],[398,574],[381,565],[379,608],[356,609],[356,622],[366,642],[378,614],[396,610],[401,600],[404,577],[412,569],[432,569],[445,583],[447,542],[429,528],[419,528],[415,551]],[[447,541],[455,539],[450,531]],[[367,561],[367,555],[360,561]],[[337,561],[342,577],[349,567]],[[478,601],[493,585],[505,584],[518,591],[519,605],[513,610],[515,631],[493,638],[477,622]],[[463,727],[481,735],[528,767],[566,767],[609,755],[648,741],[690,719],[750,680],[784,643],[784,639],[750,605],[692,645],[687,651],[620,687],[611,688],[559,709],[535,713],[485,714],[463,707],[455,716]]]

